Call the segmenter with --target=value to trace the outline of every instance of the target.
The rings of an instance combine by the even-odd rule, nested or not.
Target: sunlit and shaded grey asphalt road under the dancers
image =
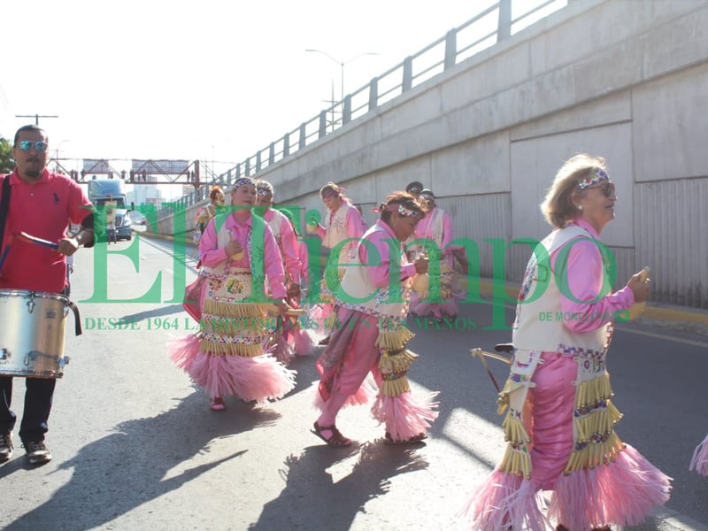
[[[366,408],[350,408],[338,425],[357,444],[332,449],[310,433],[317,353],[293,361],[297,386],[280,402],[253,407],[227,397],[225,412],[210,412],[208,397],[172,365],[168,340],[190,334],[195,324],[175,302],[173,275],[184,264],[173,259],[171,245],[141,237],[111,245],[105,262],[98,251],[76,255],[72,298],[84,333],[73,335],[70,316],[71,362],[58,381],[47,437],[54,460],[29,466],[16,448],[0,466],[0,527],[467,528],[456,513],[504,450],[495,391],[470,356],[473,347],[490,350],[510,339],[484,330],[488,304],[465,307],[466,324],[457,329],[413,323],[411,346],[420,358],[412,385],[440,391],[440,417],[426,445],[385,446],[383,427]],[[188,259],[188,281],[193,266]],[[656,327],[625,326],[615,335],[608,366],[615,404],[625,414],[618,433],[674,478],[666,509],[635,531],[706,529],[708,479],[688,472],[708,430],[706,346],[704,336]],[[504,381],[504,365],[490,364]],[[19,415],[23,392],[16,379]]]

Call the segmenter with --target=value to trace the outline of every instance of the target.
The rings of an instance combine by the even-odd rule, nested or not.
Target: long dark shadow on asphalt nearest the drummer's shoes
[[[269,425],[279,418],[277,412],[247,404],[235,404],[218,415],[204,414],[203,394],[192,393],[171,410],[122,422],[115,427],[116,433],[81,448],[75,458],[59,466],[74,469],[71,480],[49,501],[4,530],[102,528],[121,514],[179,489],[247,451],[235,451],[165,478],[174,467],[208,454],[213,440]],[[2,471],[4,475],[12,473],[4,467]]]

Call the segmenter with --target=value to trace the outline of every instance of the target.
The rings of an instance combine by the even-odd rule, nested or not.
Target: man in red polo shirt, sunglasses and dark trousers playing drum
[[[37,126],[20,127],[15,134],[12,157],[15,169],[9,180],[10,204],[0,250],[0,289],[21,289],[62,293],[67,288],[66,257],[94,242],[94,216],[89,198],[69,177],[47,169],[47,134]],[[0,197],[4,193],[0,187]],[[81,224],[81,231],[69,237],[69,222]],[[25,232],[49,242],[57,249],[15,237]],[[2,329],[0,329],[0,337]],[[25,411],[19,438],[32,464],[50,461],[44,444],[56,379],[26,379]],[[12,376],[0,374],[0,462],[12,456]]]

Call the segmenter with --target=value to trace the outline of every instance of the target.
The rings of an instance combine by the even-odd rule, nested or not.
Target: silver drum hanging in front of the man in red
[[[79,310],[57,293],[0,289],[0,375],[61,378],[66,315],[73,311],[76,335]]]

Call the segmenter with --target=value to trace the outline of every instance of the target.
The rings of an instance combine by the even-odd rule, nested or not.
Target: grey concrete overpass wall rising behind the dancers
[[[528,248],[514,245],[504,258],[489,240],[546,235],[545,189],[563,160],[587,151],[607,158],[617,183],[617,218],[603,237],[618,282],[650,266],[652,300],[708,308],[708,3],[571,0],[514,35],[511,0],[495,6],[493,45],[461,58],[453,30],[438,42],[441,72],[413,86],[418,56],[409,58],[397,96],[379,97],[392,69],[365,88],[370,105],[359,115],[357,94],[340,103],[335,131],[321,135],[320,122],[312,138],[303,124],[223,180],[266,179],[279,204],[305,210],[321,210],[319,187],[335,181],[369,222],[366,207],[421,181],[456,235],[477,244],[481,276],[504,260],[505,280],[519,281]],[[188,219],[200,199],[183,200]],[[161,212],[159,232],[181,231]]]

